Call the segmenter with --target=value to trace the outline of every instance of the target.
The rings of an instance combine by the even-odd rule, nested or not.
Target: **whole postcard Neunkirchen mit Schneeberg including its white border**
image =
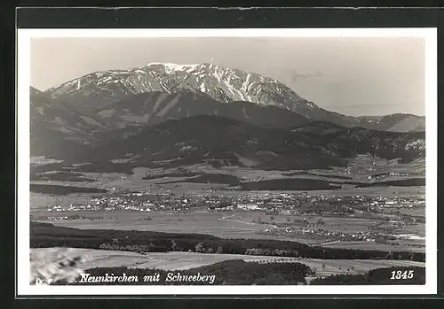
[[[19,295],[436,293],[435,28],[17,38]]]

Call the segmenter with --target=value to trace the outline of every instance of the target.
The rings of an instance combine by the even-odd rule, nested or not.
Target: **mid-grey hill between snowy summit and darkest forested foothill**
[[[259,126],[288,127],[309,122],[305,117],[276,106],[263,106],[246,101],[222,103],[203,93],[191,91],[169,94],[147,92],[125,97],[94,109],[107,127],[123,128],[155,125],[197,115],[213,115],[247,121]]]

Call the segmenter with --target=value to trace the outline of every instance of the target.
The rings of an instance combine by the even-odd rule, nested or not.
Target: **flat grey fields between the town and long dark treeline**
[[[420,239],[398,239],[393,243],[375,242],[335,242],[328,237],[286,237],[259,234],[266,228],[275,228],[274,224],[293,222],[300,220],[300,216],[292,215],[267,215],[265,212],[211,212],[207,210],[197,210],[190,213],[171,212],[134,212],[134,211],[78,211],[75,215],[84,219],[68,220],[48,220],[48,216],[70,216],[73,212],[46,212],[33,211],[33,220],[49,222],[56,226],[82,229],[120,229],[139,231],[158,231],[170,233],[205,233],[222,238],[245,238],[245,239],[280,239],[290,240],[299,243],[326,243],[324,245],[336,248],[369,249],[384,251],[424,251],[425,240],[421,236],[425,235],[425,224],[419,223],[415,226],[405,226],[394,230],[397,234],[413,234]],[[273,217],[273,220],[271,219]],[[379,220],[308,216],[306,220],[314,223],[323,220],[322,226],[330,232],[355,233],[367,231],[368,228],[377,225]],[[258,224],[258,220],[268,223]],[[385,224],[387,225],[387,224]],[[295,225],[297,226],[297,225]],[[383,225],[384,226],[384,225]],[[302,228],[302,226],[299,226]],[[388,225],[387,225],[388,227]]]

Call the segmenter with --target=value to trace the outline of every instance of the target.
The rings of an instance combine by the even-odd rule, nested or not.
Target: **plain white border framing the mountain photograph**
[[[375,28],[206,28],[206,29],[17,29],[16,96],[16,295],[436,295],[437,293],[437,89],[436,27]],[[31,38],[163,37],[422,37],[425,39],[425,284],[365,286],[40,286],[29,284],[29,86]]]

